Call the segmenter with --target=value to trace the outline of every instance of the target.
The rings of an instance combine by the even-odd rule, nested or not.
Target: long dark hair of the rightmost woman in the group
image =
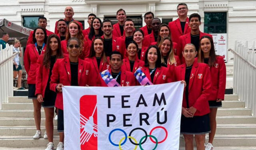
[[[216,54],[215,54],[215,49],[214,49],[214,43],[213,43],[213,40],[212,38],[210,38],[209,36],[203,36],[200,41],[199,41],[199,52],[198,52],[198,62],[199,63],[204,63],[204,52],[202,51],[201,49],[201,41],[202,39],[204,38],[207,38],[210,40],[210,43],[211,43],[211,49],[210,49],[210,59],[209,59],[209,62],[208,62],[208,65],[210,67],[214,66],[215,65],[215,61],[216,61]]]

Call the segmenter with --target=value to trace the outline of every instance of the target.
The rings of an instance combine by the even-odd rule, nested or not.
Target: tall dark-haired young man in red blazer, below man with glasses
[[[184,57],[182,57],[182,50],[187,43],[192,43],[196,47],[196,51],[199,49],[199,40],[203,36],[210,36],[212,35],[200,32],[199,26],[201,25],[201,16],[199,14],[191,14],[189,16],[189,26],[191,28],[190,33],[185,34],[184,36],[180,36],[178,42],[178,49],[176,54],[180,57],[182,63],[185,62]]]

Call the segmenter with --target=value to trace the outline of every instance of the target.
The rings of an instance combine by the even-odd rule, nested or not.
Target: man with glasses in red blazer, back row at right
[[[186,3],[180,3],[177,6],[178,19],[169,22],[168,26],[172,32],[172,41],[178,43],[179,37],[190,32],[188,26],[188,6]]]

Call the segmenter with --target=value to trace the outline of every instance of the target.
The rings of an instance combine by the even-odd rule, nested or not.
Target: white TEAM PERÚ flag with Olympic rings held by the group
[[[64,86],[64,149],[178,150],[183,90]]]

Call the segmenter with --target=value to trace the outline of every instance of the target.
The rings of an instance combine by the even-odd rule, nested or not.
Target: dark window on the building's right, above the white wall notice
[[[227,13],[226,12],[205,12],[204,32],[208,34],[227,33]]]

